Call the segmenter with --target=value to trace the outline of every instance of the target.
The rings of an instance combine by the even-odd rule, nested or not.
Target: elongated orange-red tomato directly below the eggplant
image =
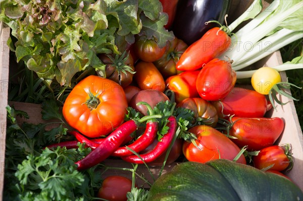
[[[192,43],[176,64],[179,71],[194,71],[225,52],[231,44],[227,33],[218,27],[207,31],[199,40]]]

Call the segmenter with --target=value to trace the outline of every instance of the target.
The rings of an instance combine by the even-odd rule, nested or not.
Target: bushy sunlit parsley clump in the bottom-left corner
[[[46,148],[38,156],[28,155],[18,165],[15,176],[22,189],[34,194],[53,200],[72,199],[73,189],[84,181],[83,174],[76,170],[74,164],[77,154],[75,149]]]

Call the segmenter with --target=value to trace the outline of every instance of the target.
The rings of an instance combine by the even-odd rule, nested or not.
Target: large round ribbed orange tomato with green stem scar
[[[63,116],[83,135],[95,138],[107,135],[124,121],[127,100],[116,82],[88,76],[80,81],[63,105]]]

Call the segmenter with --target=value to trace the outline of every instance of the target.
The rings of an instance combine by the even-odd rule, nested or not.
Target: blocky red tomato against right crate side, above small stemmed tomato
[[[231,121],[233,125],[229,135],[236,138],[232,141],[239,147],[248,146],[249,151],[259,151],[272,146],[284,129],[284,121],[279,117],[232,117]]]

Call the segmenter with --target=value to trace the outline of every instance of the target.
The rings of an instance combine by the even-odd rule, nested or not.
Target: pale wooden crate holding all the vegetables
[[[247,3],[247,1],[246,1]],[[249,5],[249,4],[245,4]],[[239,10],[245,9],[240,8]],[[237,9],[236,10],[237,13]],[[237,16],[236,16],[237,17]],[[0,27],[0,123],[1,123],[1,136],[0,136],[0,163],[1,163],[1,171],[0,171],[0,200],[3,197],[3,180],[4,180],[4,162],[5,162],[5,140],[6,140],[6,109],[5,107],[8,104],[8,78],[9,78],[9,48],[6,44],[6,41],[9,37],[10,29],[5,27],[1,23]],[[270,56],[262,59],[255,65],[259,68],[261,66],[276,66],[282,63],[280,52],[274,52]],[[281,72],[282,80],[286,81],[286,74],[285,72]],[[288,90],[288,93],[290,91]],[[281,117],[285,121],[285,128],[278,139],[276,144],[286,144],[289,143],[292,145],[292,153],[294,158],[294,166],[293,169],[287,173],[287,175],[296,183],[302,190],[303,190],[303,139],[302,139],[302,130],[300,129],[298,117],[296,114],[296,110],[294,107],[294,103],[291,99],[286,97],[280,97],[282,102],[288,102],[286,105],[278,105],[277,104],[277,111],[271,110],[267,113],[268,117]],[[29,114],[29,119],[26,120],[27,122],[31,123],[39,123],[43,122],[41,119],[41,106],[37,104],[30,104],[30,103],[18,103],[18,102],[10,102],[10,105],[14,105],[16,109],[20,109],[26,111]],[[25,121],[24,119],[18,119],[19,122]],[[56,126],[56,125],[54,125]],[[106,160],[105,164],[112,167],[131,167],[130,164],[122,160]],[[169,166],[166,166],[163,173],[170,171],[176,163],[173,163]],[[158,177],[160,168],[151,168],[150,171],[153,173],[154,178]],[[153,181],[153,178],[149,176],[149,173],[144,165],[139,165],[138,173],[144,174],[147,179]],[[131,178],[131,172],[129,171],[122,171],[122,170],[115,170],[109,169],[104,173],[104,176],[107,175],[124,175],[126,177]],[[139,178],[137,179],[138,185],[142,184],[142,180]]]

